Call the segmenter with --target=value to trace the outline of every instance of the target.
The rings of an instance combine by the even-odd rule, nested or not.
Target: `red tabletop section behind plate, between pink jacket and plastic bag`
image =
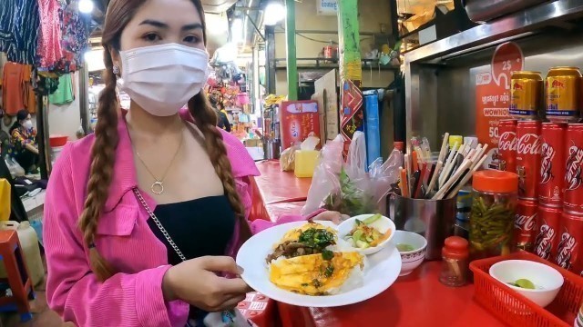
[[[251,220],[277,219],[270,215],[267,205],[275,203],[303,202],[308,196],[311,178],[297,178],[293,173],[281,172],[279,161],[257,163],[261,176],[251,179],[253,206]],[[295,212],[295,213],[299,213]]]

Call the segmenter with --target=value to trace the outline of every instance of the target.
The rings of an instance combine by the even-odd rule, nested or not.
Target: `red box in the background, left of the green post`
[[[316,101],[284,101],[280,108],[281,151],[300,144],[311,133],[320,138]]]

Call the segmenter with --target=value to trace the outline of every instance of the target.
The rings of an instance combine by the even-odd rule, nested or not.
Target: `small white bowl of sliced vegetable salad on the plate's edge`
[[[394,236],[394,223],[381,214],[362,214],[338,225],[338,235],[359,253],[383,250]]]

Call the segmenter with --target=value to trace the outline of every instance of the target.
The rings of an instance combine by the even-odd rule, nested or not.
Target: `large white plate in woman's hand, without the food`
[[[237,264],[245,272],[241,278],[255,291],[278,301],[302,307],[327,308],[337,307],[368,300],[391,286],[401,272],[401,255],[390,243],[384,250],[368,256],[364,267],[363,285],[349,292],[335,295],[310,296],[281,290],[270,282],[265,258],[271,253],[274,243],[292,228],[298,228],[306,222],[283,223],[251,237],[241,246],[237,254]],[[318,222],[336,229],[329,222]]]

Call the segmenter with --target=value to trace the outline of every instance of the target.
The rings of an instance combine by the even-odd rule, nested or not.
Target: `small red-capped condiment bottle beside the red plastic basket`
[[[464,286],[467,282],[467,267],[469,265],[467,241],[459,236],[450,236],[445,239],[441,254],[443,266],[439,282],[445,286]]]

